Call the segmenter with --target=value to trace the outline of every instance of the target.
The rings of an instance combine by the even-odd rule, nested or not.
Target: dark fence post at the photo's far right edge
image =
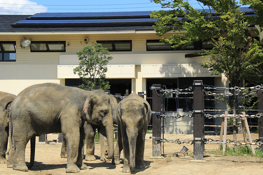
[[[257,96],[259,102],[258,102],[258,113],[263,113],[263,92],[262,90],[259,91],[259,94]],[[263,143],[263,117],[261,116],[258,118],[258,137],[259,141]],[[259,146],[261,148],[261,151],[263,152],[263,145]]]

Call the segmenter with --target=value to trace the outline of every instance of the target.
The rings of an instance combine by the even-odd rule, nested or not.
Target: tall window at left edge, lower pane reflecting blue
[[[0,41],[0,61],[16,61],[15,41]]]

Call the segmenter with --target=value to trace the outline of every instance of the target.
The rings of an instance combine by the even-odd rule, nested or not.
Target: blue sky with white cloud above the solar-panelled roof
[[[201,6],[188,0],[195,8]],[[160,4],[150,0],[0,0],[0,14],[33,15],[49,12],[118,12],[161,10]]]

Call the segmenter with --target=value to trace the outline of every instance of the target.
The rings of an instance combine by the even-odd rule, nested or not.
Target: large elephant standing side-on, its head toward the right
[[[9,113],[9,139],[12,150],[7,166],[28,171],[25,147],[31,142],[30,166],[34,162],[35,137],[62,132],[67,140],[68,163],[66,172],[77,173],[87,169],[83,164],[84,121],[102,124],[106,128],[109,151],[114,154],[113,120],[110,99],[100,90],[86,91],[56,83],[33,85],[18,94]]]

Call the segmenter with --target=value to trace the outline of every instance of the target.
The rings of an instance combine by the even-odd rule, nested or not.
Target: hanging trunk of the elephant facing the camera
[[[138,128],[135,128],[132,130],[127,129],[127,136],[128,136],[128,141],[129,141],[129,150],[130,150],[130,169],[131,171],[134,171]]]

